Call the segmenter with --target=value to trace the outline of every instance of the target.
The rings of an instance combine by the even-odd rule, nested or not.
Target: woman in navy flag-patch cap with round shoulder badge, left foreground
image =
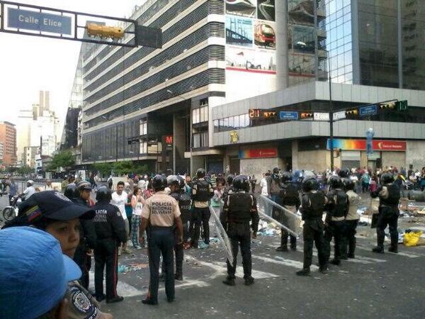
[[[44,230],[59,240],[62,253],[72,258],[79,245],[80,220],[92,219],[94,215],[91,208],[73,203],[60,192],[41,191],[23,201],[18,216],[6,223],[4,228],[33,226]],[[0,230],[0,233],[3,231]],[[68,283],[66,297],[69,301],[67,318],[113,318],[101,312],[98,301],[77,280]]]

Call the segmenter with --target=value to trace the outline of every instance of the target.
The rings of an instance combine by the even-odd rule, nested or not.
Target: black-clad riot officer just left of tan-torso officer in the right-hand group
[[[349,203],[348,196],[342,190],[343,184],[341,178],[338,176],[329,177],[329,191],[326,196],[328,199],[327,203],[327,215],[325,220],[324,228],[324,240],[326,247],[327,261],[331,254],[331,240],[334,237],[334,259],[331,260],[331,264],[341,264],[341,259],[346,259],[346,252],[343,247],[345,244],[345,218],[348,213]]]

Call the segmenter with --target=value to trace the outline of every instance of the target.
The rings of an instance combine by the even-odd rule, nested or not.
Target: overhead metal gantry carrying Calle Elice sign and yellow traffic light
[[[140,26],[132,19],[1,0],[0,32],[123,47],[162,47],[161,29]]]

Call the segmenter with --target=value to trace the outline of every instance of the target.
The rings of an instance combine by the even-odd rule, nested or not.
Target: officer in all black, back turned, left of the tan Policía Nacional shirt
[[[96,248],[94,250],[94,285],[96,299],[102,301],[106,297],[107,303],[123,301],[118,296],[118,247],[125,242],[125,224],[120,210],[112,205],[111,189],[107,186],[99,187],[96,194],[94,211],[94,227],[96,230]],[[103,269],[106,265],[106,296],[103,294]]]

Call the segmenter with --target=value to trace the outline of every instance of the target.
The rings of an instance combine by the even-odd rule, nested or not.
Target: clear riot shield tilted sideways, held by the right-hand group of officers
[[[290,235],[295,237],[300,235],[301,217],[297,213],[280,206],[266,196],[256,194],[256,199],[260,218],[275,223],[278,227],[290,233]]]

